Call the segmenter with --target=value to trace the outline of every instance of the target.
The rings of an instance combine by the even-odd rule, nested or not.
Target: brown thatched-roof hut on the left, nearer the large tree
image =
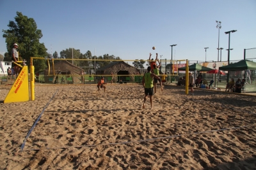
[[[81,82],[81,76],[79,75],[82,71],[84,70],[67,60],[58,60],[58,62],[54,62],[54,66],[51,64],[50,69],[49,67],[45,69],[45,83],[54,82],[56,77],[60,75],[70,75],[73,83],[79,83]]]

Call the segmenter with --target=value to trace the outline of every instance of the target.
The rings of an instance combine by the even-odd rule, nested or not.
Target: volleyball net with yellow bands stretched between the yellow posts
[[[31,65],[40,57],[31,57]],[[106,83],[141,83],[151,60],[100,60],[100,59],[46,59],[44,71],[35,73],[35,81],[50,84],[91,84],[101,77]],[[186,65],[186,60],[159,60],[159,76],[166,81],[179,76],[178,68]],[[36,69],[36,64],[35,64]],[[178,79],[178,78],[177,78]]]

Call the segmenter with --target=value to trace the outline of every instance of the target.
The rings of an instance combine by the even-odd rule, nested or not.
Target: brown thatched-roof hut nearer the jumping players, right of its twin
[[[98,75],[111,75],[111,73],[114,75],[134,75],[139,72],[140,69],[137,69],[124,61],[111,62],[110,64],[96,70],[96,74]],[[129,77],[131,78],[131,81],[134,81],[134,76]],[[122,76],[118,76],[118,78],[122,79]]]

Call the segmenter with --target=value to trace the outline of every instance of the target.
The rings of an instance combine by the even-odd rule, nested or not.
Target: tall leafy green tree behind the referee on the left
[[[28,18],[17,11],[15,22],[10,21],[8,27],[8,30],[3,30],[3,38],[5,38],[6,48],[10,56],[13,43],[18,43],[19,55],[22,59],[27,60],[28,66],[30,65],[30,57],[45,57],[47,55],[47,48],[45,48],[44,43],[39,42],[43,36],[42,31],[37,29],[33,18]],[[33,61],[35,72],[44,70],[44,62],[45,60]]]

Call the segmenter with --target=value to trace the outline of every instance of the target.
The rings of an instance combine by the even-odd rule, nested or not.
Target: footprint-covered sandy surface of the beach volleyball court
[[[256,169],[255,96],[166,86],[143,110],[141,85],[36,85],[35,101],[3,104],[9,89],[0,169]]]

